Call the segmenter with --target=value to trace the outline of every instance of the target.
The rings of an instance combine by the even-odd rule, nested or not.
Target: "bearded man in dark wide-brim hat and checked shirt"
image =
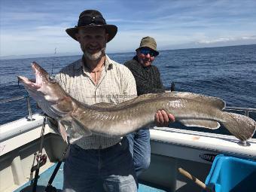
[[[117,26],[105,22],[96,10],[83,11],[78,25],[66,29],[78,41],[83,56],[56,75],[70,96],[87,105],[133,99],[136,81],[125,66],[105,54]],[[156,114],[158,117],[158,114]],[[79,133],[78,133],[79,134]],[[79,137],[78,137],[79,138]],[[137,191],[136,172],[126,137],[82,136],[73,140],[64,164],[64,192]]]

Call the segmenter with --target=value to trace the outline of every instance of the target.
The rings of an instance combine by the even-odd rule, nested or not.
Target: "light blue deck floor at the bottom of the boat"
[[[51,166],[46,171],[42,172],[40,174],[40,177],[38,178],[38,187],[37,192],[44,192],[45,186],[47,185],[50,175],[52,175],[53,170],[55,168],[56,164]],[[59,168],[59,171],[56,174],[56,177],[53,180],[53,187],[56,187],[57,191],[62,191],[62,183],[63,183],[63,163]],[[32,191],[32,186],[30,182],[27,182],[23,186],[19,187],[17,190],[14,190],[14,192],[26,192],[26,191]],[[150,187],[145,184],[139,184],[139,192],[165,192],[166,190],[157,189],[155,187]]]

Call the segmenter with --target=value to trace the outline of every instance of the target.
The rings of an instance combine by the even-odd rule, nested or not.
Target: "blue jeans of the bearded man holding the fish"
[[[62,191],[103,189],[111,192],[137,191],[133,157],[126,138],[117,145],[101,150],[84,150],[78,145],[71,145],[69,157],[64,164]]]

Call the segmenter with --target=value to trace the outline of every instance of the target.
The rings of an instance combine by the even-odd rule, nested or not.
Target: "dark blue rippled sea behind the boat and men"
[[[108,56],[123,63],[132,59],[134,54],[111,53]],[[26,95],[23,86],[17,84],[17,76],[35,78],[30,65],[32,61],[38,62],[54,75],[62,67],[80,58],[78,55],[0,60],[0,101]],[[166,90],[170,90],[174,82],[177,91],[217,96],[224,99],[227,106],[256,108],[256,44],[162,50],[154,65],[160,69]],[[41,112],[33,101],[32,112]],[[0,125],[27,116],[26,100],[0,103],[0,113]],[[202,128],[195,129],[205,131]],[[227,133],[223,128],[211,132]]]

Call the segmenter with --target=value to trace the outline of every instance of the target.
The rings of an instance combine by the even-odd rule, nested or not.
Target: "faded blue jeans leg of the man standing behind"
[[[126,137],[129,140],[130,153],[133,155],[136,175],[139,176],[148,169],[151,162],[150,132],[148,129],[137,130]]]

